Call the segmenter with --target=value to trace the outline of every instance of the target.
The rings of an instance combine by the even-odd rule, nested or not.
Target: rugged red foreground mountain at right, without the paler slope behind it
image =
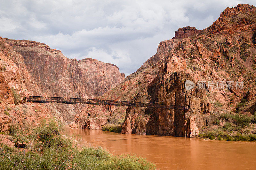
[[[165,53],[156,79],[133,100],[187,105],[189,110],[128,107],[121,133],[196,137],[202,127],[218,121],[218,115],[232,111],[248,90],[255,90],[255,9],[248,4],[227,8],[196,36],[184,38],[177,34],[184,29],[179,29],[176,38],[184,39]],[[186,90],[186,80],[195,87]],[[236,84],[229,88],[228,82],[236,81],[244,83],[242,89]],[[248,106],[250,112],[253,108]]]

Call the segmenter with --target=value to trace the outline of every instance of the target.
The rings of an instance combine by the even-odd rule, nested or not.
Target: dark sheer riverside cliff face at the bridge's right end
[[[163,69],[165,70],[165,69]],[[189,106],[188,111],[175,109],[156,109],[146,124],[146,134],[195,137],[199,129],[205,125],[204,117],[210,115],[211,103],[207,99],[206,92],[196,88],[185,89],[185,81],[196,82],[193,75],[180,72],[172,72],[166,76],[168,70],[163,72],[155,87],[152,102],[161,102],[176,106]]]

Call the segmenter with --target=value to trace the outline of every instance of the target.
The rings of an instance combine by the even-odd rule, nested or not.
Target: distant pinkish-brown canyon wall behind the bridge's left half
[[[94,98],[114,88],[125,78],[113,64],[94,59],[69,59],[60,50],[35,41],[4,41],[21,54],[28,69],[26,75],[29,77],[25,84],[30,95]],[[69,123],[84,106],[47,104],[47,107]]]

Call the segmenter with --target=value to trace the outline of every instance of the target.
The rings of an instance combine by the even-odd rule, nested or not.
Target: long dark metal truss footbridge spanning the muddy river
[[[99,100],[99,99],[82,99],[82,98],[65,98],[65,97],[46,97],[46,96],[28,96],[26,102],[37,103],[71,103],[71,104],[93,104],[93,105],[114,105],[114,106],[133,106],[133,107],[149,107],[149,108],[167,108],[188,110],[188,106],[174,106],[156,103],[141,103],[131,101],[116,100]]]

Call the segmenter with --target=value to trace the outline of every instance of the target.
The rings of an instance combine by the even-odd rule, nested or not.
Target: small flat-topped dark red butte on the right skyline
[[[172,39],[188,38],[191,35],[200,33],[200,31],[201,30],[198,30],[195,27],[190,27],[190,26],[179,28],[177,31],[175,31],[175,37],[173,37]]]

